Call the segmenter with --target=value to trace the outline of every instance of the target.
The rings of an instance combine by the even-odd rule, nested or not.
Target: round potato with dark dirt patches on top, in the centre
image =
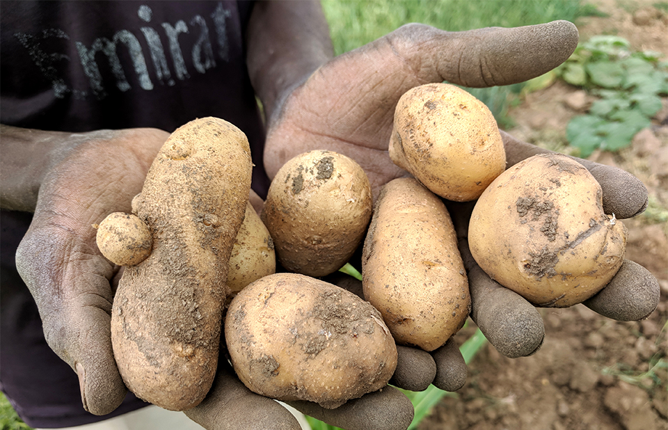
[[[319,277],[348,262],[364,239],[372,206],[369,179],[353,159],[315,150],[278,170],[262,221],[280,264]]]

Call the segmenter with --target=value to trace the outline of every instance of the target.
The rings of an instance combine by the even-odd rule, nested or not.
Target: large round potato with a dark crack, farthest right
[[[601,186],[562,154],[530,157],[500,175],[477,201],[469,245],[479,266],[532,304],[563,308],[617,273],[626,228],[603,212]]]

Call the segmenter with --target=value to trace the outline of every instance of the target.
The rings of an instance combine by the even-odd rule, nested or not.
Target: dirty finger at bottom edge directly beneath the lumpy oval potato
[[[325,409],[308,401],[287,404],[317,420],[347,430],[406,430],[413,421],[413,404],[390,385],[347,401],[336,409]]]

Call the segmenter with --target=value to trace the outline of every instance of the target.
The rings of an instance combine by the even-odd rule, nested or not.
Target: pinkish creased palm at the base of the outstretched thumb
[[[401,58],[382,39],[321,67],[287,99],[276,127],[269,130],[269,175],[288,159],[316,148],[358,161],[374,189],[401,175],[387,152],[392,116],[401,94],[421,83],[401,68]],[[289,145],[275,150],[273,141],[284,139]]]

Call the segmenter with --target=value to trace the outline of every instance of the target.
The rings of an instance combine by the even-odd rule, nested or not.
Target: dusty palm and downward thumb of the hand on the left
[[[111,351],[112,284],[118,266],[100,254],[96,230],[111,212],[130,212],[168,134],[126,129],[59,133],[42,164],[33,221],[16,255],[17,269],[40,310],[45,337],[79,376],[81,399],[104,415],[127,388]]]

